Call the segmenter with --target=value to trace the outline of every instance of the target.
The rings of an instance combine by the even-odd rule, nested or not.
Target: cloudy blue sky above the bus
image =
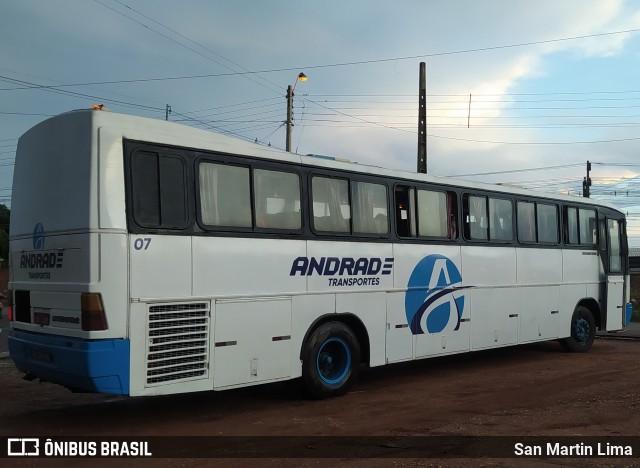
[[[17,138],[105,104],[284,148],[593,198],[640,246],[640,2],[0,0],[0,202]]]

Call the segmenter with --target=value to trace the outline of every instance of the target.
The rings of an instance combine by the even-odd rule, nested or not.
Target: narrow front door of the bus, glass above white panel
[[[625,317],[625,258],[623,222],[618,219],[600,220],[600,246],[606,282],[606,329],[620,330],[626,325]]]

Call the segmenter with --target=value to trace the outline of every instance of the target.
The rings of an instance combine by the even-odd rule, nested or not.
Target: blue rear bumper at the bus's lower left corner
[[[9,354],[25,374],[72,390],[129,394],[129,340],[83,340],[13,330]]]

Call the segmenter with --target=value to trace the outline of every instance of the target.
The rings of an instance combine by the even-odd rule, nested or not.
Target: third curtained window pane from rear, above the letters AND
[[[311,180],[313,227],[317,231],[350,232],[349,183],[343,179]]]

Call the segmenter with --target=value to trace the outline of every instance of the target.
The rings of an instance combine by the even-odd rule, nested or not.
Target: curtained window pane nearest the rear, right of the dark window
[[[202,163],[200,216],[208,226],[251,227],[249,168]]]

